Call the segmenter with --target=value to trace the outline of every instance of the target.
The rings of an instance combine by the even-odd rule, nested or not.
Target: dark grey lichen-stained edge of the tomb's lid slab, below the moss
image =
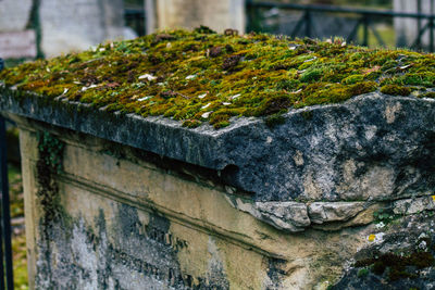
[[[2,88],[0,111],[217,171],[254,201],[394,200],[435,189],[435,100],[377,92],[293,110],[284,124],[239,118],[195,129]]]

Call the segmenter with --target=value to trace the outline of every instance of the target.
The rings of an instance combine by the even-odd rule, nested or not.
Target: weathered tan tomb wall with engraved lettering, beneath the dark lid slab
[[[252,203],[208,169],[12,117],[35,289],[326,289],[347,269],[345,289],[356,260],[431,245],[431,196]]]

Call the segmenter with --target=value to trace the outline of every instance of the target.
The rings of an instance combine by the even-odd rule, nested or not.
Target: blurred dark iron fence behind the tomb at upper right
[[[389,10],[368,10],[368,9],[352,9],[343,7],[332,7],[332,5],[308,5],[308,4],[294,4],[294,3],[274,3],[274,2],[258,2],[252,0],[246,1],[247,8],[247,18],[248,31],[269,31],[269,33],[279,33],[277,29],[268,27],[268,18],[276,17],[279,12],[294,12],[299,13],[298,18],[289,25],[290,30],[288,34],[291,37],[310,37],[310,38],[321,38],[316,31],[316,23],[319,21],[319,15],[323,18],[325,15],[335,15],[336,18],[347,17],[351,25],[341,25],[348,28],[348,31],[343,36],[348,42],[355,42],[362,46],[370,46],[371,38],[370,33],[374,36],[374,39],[378,45],[385,46],[385,40],[378,33],[375,23],[387,22],[393,23],[397,18],[411,18],[415,20],[417,34],[413,41],[410,42],[408,47],[411,49],[427,49],[431,52],[435,50],[435,35],[434,35],[434,14],[427,13],[408,13],[408,12],[395,12]],[[285,16],[290,14],[284,14]],[[424,25],[422,25],[422,23]],[[350,28],[349,28],[350,26]],[[427,45],[424,45],[423,36],[428,34]],[[335,35],[339,31],[335,31]]]

